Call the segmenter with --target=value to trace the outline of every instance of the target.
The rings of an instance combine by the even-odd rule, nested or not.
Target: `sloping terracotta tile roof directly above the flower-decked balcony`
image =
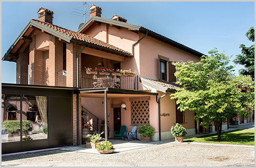
[[[67,29],[59,27],[57,25],[54,25],[54,24],[51,24],[51,23],[48,23],[48,22],[43,22],[43,21],[40,21],[40,20],[37,20],[37,19],[32,19],[32,20],[34,20],[34,21],[36,21],[36,22],[38,22],[42,25],[45,25],[45,26],[49,27],[52,30],[55,30],[55,31],[57,31],[59,33],[62,33],[66,36],[69,36],[73,39],[84,41],[84,42],[91,43],[91,44],[95,44],[95,45],[105,47],[105,48],[109,48],[109,49],[112,49],[112,50],[115,50],[115,51],[123,52],[125,54],[129,54],[129,55],[132,56],[132,54],[128,51],[125,51],[125,50],[120,49],[120,48],[118,48],[114,45],[111,45],[111,44],[105,43],[103,41],[100,41],[98,39],[95,39],[92,36],[82,34],[82,33],[78,33],[78,32],[74,32],[74,31],[71,31],[71,30],[67,30]]]

